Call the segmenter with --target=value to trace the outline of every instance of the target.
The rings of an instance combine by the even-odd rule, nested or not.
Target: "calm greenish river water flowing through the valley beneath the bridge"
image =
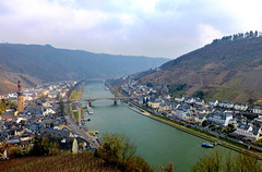
[[[87,82],[82,98],[114,97],[105,89],[102,81]],[[99,100],[92,103],[94,114],[85,113],[90,131],[102,133],[126,134],[138,146],[136,155],[143,157],[156,171],[159,165],[166,167],[169,161],[176,165],[176,171],[190,171],[200,157],[214,151],[226,149],[217,146],[214,149],[202,148],[205,139],[190,135],[169,125],[139,114],[124,103],[118,101],[115,106],[112,100]]]

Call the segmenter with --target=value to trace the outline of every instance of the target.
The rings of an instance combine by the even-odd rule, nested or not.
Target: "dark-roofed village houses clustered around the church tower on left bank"
[[[69,91],[75,85],[76,82],[38,85],[23,91],[25,106],[22,112],[11,106],[5,107],[0,115],[0,158],[12,157],[17,149],[21,155],[28,153],[36,137],[48,138],[59,151],[93,150],[90,143],[70,127],[64,116],[63,101],[68,100]],[[17,94],[20,91],[0,98],[17,103]]]

